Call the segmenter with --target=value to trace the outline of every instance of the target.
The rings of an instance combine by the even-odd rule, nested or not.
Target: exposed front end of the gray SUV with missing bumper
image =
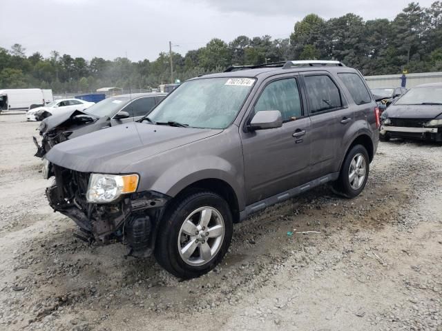
[[[106,245],[128,245],[129,255],[146,257],[153,250],[157,220],[162,217],[169,197],[152,191],[122,194],[110,203],[90,203],[86,199],[90,173],[52,166],[55,183],[46,189],[53,210],[73,219],[86,241]]]

